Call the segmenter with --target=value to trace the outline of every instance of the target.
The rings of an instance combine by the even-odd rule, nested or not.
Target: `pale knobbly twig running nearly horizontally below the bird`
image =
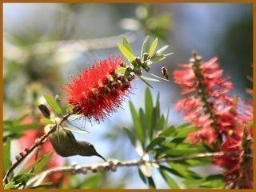
[[[96,173],[98,171],[107,171],[112,170],[116,171],[117,167],[121,166],[142,166],[142,165],[159,165],[162,162],[178,162],[182,160],[192,159],[192,158],[212,158],[212,157],[222,157],[226,155],[234,155],[239,156],[240,153],[236,152],[230,152],[230,153],[222,153],[222,152],[216,152],[216,153],[204,153],[204,154],[194,154],[194,155],[188,155],[188,156],[182,156],[182,157],[174,157],[174,158],[159,158],[154,160],[130,160],[130,161],[119,161],[119,160],[109,160],[108,162],[98,163],[98,164],[92,164],[90,166],[59,166],[54,167],[48,170],[43,171],[40,174],[37,174],[34,176],[34,178],[31,178],[26,183],[26,188],[30,188],[33,186],[40,185],[44,178],[49,176],[50,174],[54,173],[72,173],[72,174],[88,174],[88,173]],[[252,154],[243,154],[250,158],[252,158]]]

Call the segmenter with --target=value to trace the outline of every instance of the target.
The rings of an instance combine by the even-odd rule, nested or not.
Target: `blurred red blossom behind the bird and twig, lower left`
[[[30,122],[32,122],[32,118],[25,118],[22,121],[22,123],[30,123]],[[25,134],[24,136],[18,139],[18,143],[20,144],[20,146],[32,146],[34,145],[34,141],[37,138],[40,138],[44,134],[44,132],[43,130],[26,130],[24,131],[24,134]],[[49,169],[55,166],[64,166],[65,164],[64,158],[60,157],[58,154],[54,152],[53,146],[51,146],[50,142],[48,141],[41,146],[41,148],[38,150],[37,155],[38,155],[38,158],[40,158],[42,157],[42,155],[50,154],[52,152],[53,154],[46,166],[46,169]],[[33,156],[27,162],[26,167],[29,167],[30,165],[32,165],[34,161],[35,161],[35,154],[33,154]],[[50,175],[50,178],[47,178],[48,179],[47,181],[52,182],[54,185],[57,185],[62,178],[63,178],[63,174],[56,173],[56,174]]]

